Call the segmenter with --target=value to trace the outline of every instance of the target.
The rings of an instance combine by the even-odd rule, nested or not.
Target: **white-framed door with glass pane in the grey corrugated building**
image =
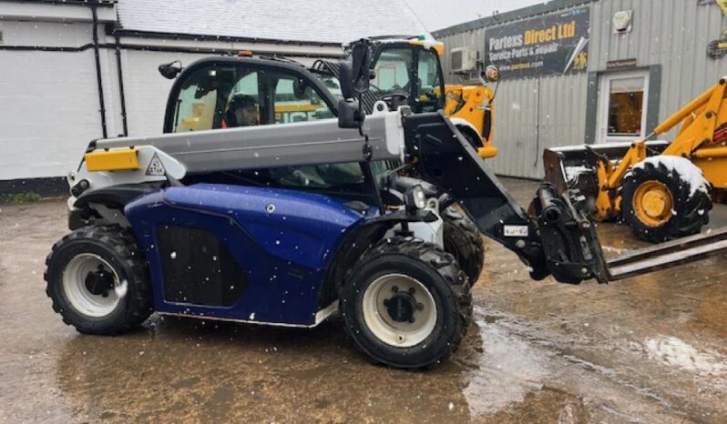
[[[597,141],[631,142],[646,136],[649,72],[604,74],[599,84]]]

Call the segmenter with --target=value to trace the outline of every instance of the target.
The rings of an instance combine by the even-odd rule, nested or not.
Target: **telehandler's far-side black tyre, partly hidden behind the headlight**
[[[473,287],[479,279],[485,260],[482,235],[472,219],[454,206],[445,209],[442,219],[445,221],[445,252],[455,257],[459,267],[469,278],[470,287]]]

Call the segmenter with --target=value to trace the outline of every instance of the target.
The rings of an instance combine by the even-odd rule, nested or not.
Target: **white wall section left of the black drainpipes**
[[[0,21],[5,45],[78,46],[92,25]],[[0,51],[0,179],[58,177],[101,134],[93,50]]]

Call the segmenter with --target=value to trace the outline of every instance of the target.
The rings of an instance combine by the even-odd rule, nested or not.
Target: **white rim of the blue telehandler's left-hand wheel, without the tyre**
[[[118,306],[116,290],[108,290],[108,295],[95,295],[86,287],[88,273],[96,272],[99,267],[110,271],[114,277],[114,287],[120,281],[116,269],[106,260],[92,253],[81,253],[68,261],[63,270],[63,291],[71,306],[87,317],[106,317]]]

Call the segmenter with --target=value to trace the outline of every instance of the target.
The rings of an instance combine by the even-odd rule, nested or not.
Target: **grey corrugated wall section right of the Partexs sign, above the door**
[[[633,10],[629,34],[613,34],[610,22],[619,10]],[[601,0],[591,6],[590,20],[590,71],[605,70],[616,59],[661,65],[660,121],[727,75],[727,58],[706,54],[707,44],[727,29],[714,1]]]

